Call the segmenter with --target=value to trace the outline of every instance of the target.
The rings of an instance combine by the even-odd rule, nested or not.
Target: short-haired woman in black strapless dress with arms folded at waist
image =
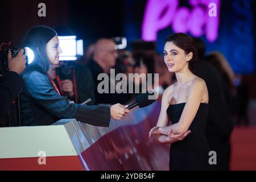
[[[209,170],[205,138],[208,90],[204,80],[192,73],[197,62],[193,38],[183,33],[168,36],[164,61],[168,71],[175,72],[177,82],[164,91],[158,123],[149,136],[171,143],[170,170]]]

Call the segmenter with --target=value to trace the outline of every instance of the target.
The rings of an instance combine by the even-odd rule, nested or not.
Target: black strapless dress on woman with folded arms
[[[179,122],[185,103],[170,105],[167,109],[172,124]],[[201,103],[189,130],[191,133],[181,141],[174,142],[170,148],[170,170],[212,170],[209,145],[205,138],[208,104]]]

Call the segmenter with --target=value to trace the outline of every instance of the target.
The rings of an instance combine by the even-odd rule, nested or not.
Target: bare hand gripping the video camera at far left
[[[20,75],[26,68],[26,55],[23,55],[24,49],[20,49],[16,57],[11,57],[11,51],[8,52],[8,68],[9,71],[16,72]]]

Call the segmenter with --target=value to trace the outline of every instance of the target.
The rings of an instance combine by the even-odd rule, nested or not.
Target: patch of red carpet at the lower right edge
[[[231,170],[256,170],[256,127],[236,127],[231,147]]]

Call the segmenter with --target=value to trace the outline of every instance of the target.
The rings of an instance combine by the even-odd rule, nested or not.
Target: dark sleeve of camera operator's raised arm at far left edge
[[[5,115],[15,97],[23,88],[24,81],[22,77],[16,72],[7,73],[5,80],[0,84],[0,115]]]

